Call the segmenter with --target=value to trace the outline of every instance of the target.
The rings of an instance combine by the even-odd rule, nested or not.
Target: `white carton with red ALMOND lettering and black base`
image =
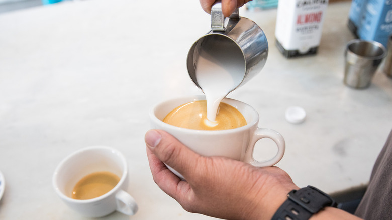
[[[287,58],[316,54],[328,0],[279,0],[275,38]]]

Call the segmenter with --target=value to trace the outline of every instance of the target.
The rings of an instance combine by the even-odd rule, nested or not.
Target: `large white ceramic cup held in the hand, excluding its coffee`
[[[227,103],[241,112],[247,125],[228,130],[205,131],[180,128],[164,123],[162,120],[174,108],[197,100],[206,100],[205,96],[183,97],[164,101],[150,111],[151,127],[164,130],[182,144],[203,156],[224,156],[235,160],[249,163],[255,167],[273,166],[283,157],[285,142],[283,137],[276,131],[258,128],[259,115],[248,104],[234,99],[225,98],[222,102]],[[265,161],[257,161],[253,157],[256,142],[262,138],[272,139],[277,146],[276,155]],[[183,176],[168,166],[168,168],[183,179]]]

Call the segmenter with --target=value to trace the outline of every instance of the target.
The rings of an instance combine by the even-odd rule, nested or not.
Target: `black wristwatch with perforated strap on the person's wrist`
[[[292,190],[287,197],[287,200],[273,215],[272,220],[308,220],[324,207],[336,207],[333,198],[313,186]]]

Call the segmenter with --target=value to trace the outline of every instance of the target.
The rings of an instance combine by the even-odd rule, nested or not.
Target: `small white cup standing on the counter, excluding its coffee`
[[[92,199],[73,199],[76,183],[93,172],[107,171],[120,177],[120,181],[109,192]],[[53,175],[53,187],[60,198],[73,210],[86,217],[102,217],[114,211],[127,215],[137,212],[138,206],[131,195],[125,192],[128,186],[128,165],[118,150],[105,146],[80,149],[57,166]]]

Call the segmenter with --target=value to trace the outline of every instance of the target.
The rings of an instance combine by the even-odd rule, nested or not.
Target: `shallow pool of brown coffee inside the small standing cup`
[[[107,171],[88,174],[76,183],[72,190],[72,198],[91,199],[99,197],[112,190],[119,181],[120,177]]]

